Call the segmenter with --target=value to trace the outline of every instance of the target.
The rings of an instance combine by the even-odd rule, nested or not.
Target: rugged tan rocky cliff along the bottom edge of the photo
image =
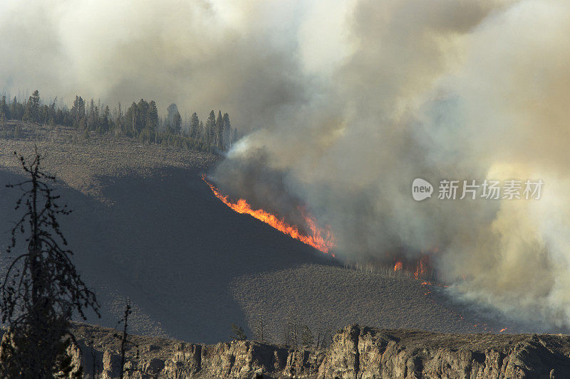
[[[83,329],[81,329],[83,328]],[[81,326],[86,375],[118,378],[109,329]],[[80,333],[80,334],[81,334]],[[86,335],[91,341],[87,341]],[[568,378],[570,336],[446,334],[347,326],[327,348],[135,337],[126,378]]]

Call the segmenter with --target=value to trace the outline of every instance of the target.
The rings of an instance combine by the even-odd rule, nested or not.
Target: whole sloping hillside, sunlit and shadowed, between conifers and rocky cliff
[[[259,314],[274,341],[289,314],[313,331],[355,322],[460,333],[513,328],[462,308],[442,287],[356,272],[234,213],[199,178],[217,156],[21,127],[24,137],[0,139],[0,183],[19,180],[12,151],[29,154],[37,144],[46,153],[58,193],[75,209],[63,232],[103,306],[103,318],[90,323],[115,326],[128,297],[134,333],[200,343],[227,340],[232,323],[251,336]],[[0,188],[3,245],[16,196]]]

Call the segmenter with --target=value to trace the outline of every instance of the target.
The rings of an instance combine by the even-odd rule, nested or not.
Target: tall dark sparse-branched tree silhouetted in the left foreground
[[[14,152],[16,154],[16,152]],[[25,239],[26,251],[14,258],[0,287],[2,322],[9,324],[1,343],[0,368],[3,378],[53,378],[76,373],[67,353],[73,335],[69,322],[74,312],[86,319],[84,311],[98,314],[99,304],[71,262],[58,217],[68,215],[66,205],[56,203],[48,182],[55,177],[41,171],[41,156],[28,164],[19,157],[26,180],[9,184],[23,193],[16,210],[25,213],[11,230],[11,245]],[[63,246],[63,248],[62,248]]]

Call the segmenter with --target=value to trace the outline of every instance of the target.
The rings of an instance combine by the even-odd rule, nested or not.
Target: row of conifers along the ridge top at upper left
[[[156,102],[140,99],[133,102],[126,110],[120,102],[110,110],[101,102],[89,102],[76,96],[71,110],[59,107],[57,98],[50,103],[42,102],[38,90],[28,97],[26,102],[16,96],[6,100],[0,97],[0,122],[9,119],[40,124],[59,124],[73,127],[83,132],[86,137],[91,132],[132,137],[145,143],[179,146],[202,151],[227,151],[239,139],[237,128],[232,127],[229,114],[212,110],[207,119],[200,120],[197,113],[190,119],[182,120],[176,104],[167,107],[165,117],[160,117]]]

